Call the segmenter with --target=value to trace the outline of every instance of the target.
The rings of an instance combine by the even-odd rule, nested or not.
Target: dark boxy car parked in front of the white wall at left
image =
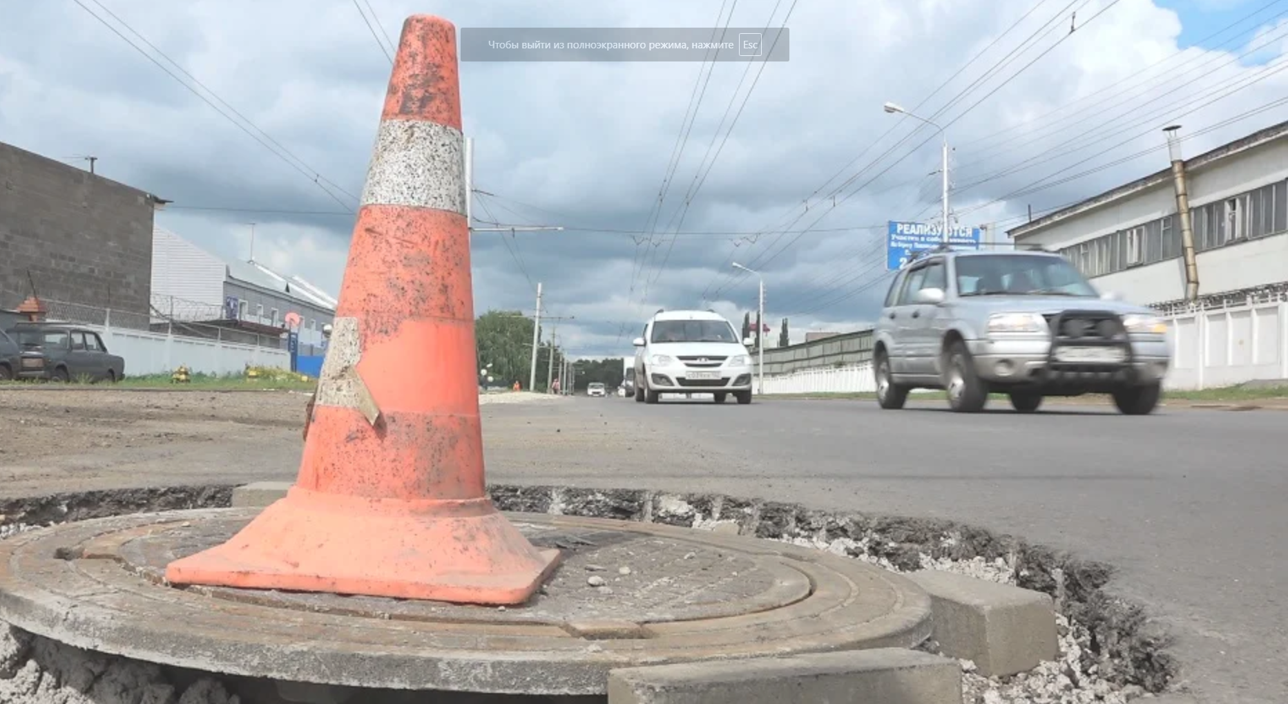
[[[53,322],[19,322],[9,330],[21,349],[19,379],[117,382],[125,360],[107,351],[94,330]]]

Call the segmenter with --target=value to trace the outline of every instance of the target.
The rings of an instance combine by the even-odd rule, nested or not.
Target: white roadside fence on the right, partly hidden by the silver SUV
[[[1264,302],[1166,316],[1173,391],[1288,379],[1288,302]],[[765,378],[765,395],[872,393],[872,364],[806,369]]]

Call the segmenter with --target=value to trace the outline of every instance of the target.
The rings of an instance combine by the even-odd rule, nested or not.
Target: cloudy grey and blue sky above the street
[[[97,156],[228,259],[254,222],[258,260],[334,293],[413,13],[790,28],[788,62],[462,62],[475,218],[565,228],[477,233],[475,308],[540,281],[583,356],[659,307],[741,318],[732,262],[793,339],[871,320],[884,223],[939,213],[938,135],[887,101],[945,125],[958,224],[1002,230],[1164,168],[1164,125],[1193,156],[1288,119],[1285,0],[40,0],[0,9],[0,141]]]

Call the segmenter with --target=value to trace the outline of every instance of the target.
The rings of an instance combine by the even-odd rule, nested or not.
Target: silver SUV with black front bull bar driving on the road
[[[1118,410],[1158,405],[1171,362],[1167,324],[1100,295],[1047,251],[940,248],[895,277],[876,325],[872,367],[882,409],[913,388],[943,388],[954,411],[1007,393],[1020,413],[1045,396],[1108,393]]]

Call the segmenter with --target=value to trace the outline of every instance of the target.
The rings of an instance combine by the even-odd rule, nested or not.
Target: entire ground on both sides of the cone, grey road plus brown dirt
[[[13,431],[0,495],[292,480],[303,407],[299,395],[0,393]],[[483,419],[493,482],[943,517],[1077,551],[1118,566],[1112,587],[1179,636],[1199,701],[1288,701],[1285,411],[578,397],[487,405]]]

